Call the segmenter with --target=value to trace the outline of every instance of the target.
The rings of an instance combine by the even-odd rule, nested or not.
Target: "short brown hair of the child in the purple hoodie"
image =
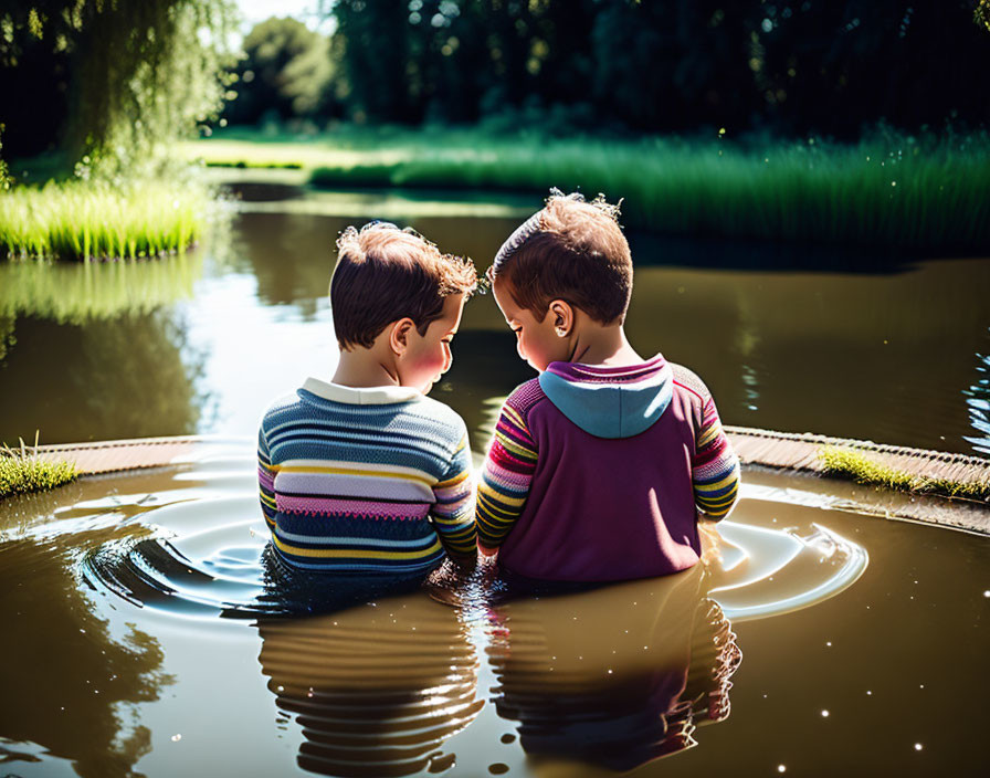
[[[505,242],[488,269],[508,282],[513,299],[543,322],[565,299],[602,324],[625,319],[632,294],[632,254],[619,208],[599,195],[587,202],[559,191]]]

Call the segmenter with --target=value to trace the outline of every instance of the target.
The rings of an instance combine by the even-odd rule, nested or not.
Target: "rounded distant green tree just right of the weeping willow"
[[[244,39],[245,57],[235,71],[239,97],[229,104],[225,117],[256,123],[270,113],[286,119],[323,109],[334,76],[329,43],[295,19],[256,24]]]

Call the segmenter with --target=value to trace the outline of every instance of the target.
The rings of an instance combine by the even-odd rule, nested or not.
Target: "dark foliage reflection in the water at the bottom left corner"
[[[114,534],[0,540],[0,763],[11,775],[38,760],[31,744],[85,778],[130,775],[151,749],[131,706],[171,683],[158,642],[135,627],[112,637],[72,571],[80,548]]]

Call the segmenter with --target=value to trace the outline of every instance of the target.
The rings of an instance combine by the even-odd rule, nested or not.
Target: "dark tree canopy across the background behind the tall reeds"
[[[336,0],[356,118],[588,128],[980,124],[987,0]]]

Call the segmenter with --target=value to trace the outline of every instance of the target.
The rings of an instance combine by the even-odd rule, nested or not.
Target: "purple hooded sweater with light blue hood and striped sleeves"
[[[554,362],[506,400],[478,485],[478,542],[510,571],[618,580],[683,570],[698,514],[722,518],[739,464],[715,402],[661,355]]]

